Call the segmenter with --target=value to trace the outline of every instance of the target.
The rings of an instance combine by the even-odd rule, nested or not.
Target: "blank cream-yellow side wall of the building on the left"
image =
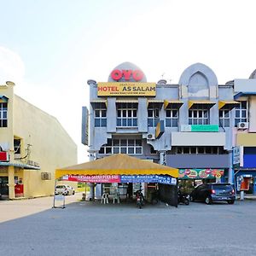
[[[19,96],[14,99],[14,136],[22,139],[20,156],[26,154],[27,144],[31,144],[26,160],[38,162],[41,168],[24,170],[24,194],[53,195],[55,168],[77,164],[77,146],[55,117]],[[51,180],[42,180],[41,172],[51,172]]]

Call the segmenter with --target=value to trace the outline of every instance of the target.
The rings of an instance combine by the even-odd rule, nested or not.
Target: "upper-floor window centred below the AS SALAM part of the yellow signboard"
[[[118,127],[137,127],[137,103],[120,103],[117,107]]]

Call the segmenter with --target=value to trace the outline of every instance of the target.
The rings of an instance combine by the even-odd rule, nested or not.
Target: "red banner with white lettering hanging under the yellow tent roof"
[[[66,175],[62,180],[79,183],[119,183],[119,175]]]

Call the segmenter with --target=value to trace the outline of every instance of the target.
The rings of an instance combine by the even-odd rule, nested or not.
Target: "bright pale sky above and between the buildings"
[[[55,116],[81,142],[88,79],[108,81],[114,67],[136,64],[148,82],[177,84],[201,62],[218,84],[256,69],[254,0],[0,0],[0,84]]]

